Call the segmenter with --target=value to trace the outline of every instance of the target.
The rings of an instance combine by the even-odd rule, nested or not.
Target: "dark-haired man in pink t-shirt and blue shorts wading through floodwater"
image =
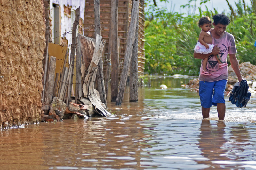
[[[229,54],[230,64],[236,73],[238,81],[243,80],[239,70],[239,64],[236,59],[236,45],[235,39],[232,34],[226,32],[227,25],[230,23],[230,19],[224,14],[218,14],[213,16],[212,44],[214,48],[209,54],[200,54],[194,52],[194,58],[205,59],[209,57],[206,69],[211,74],[210,76],[201,74],[202,65],[199,74],[199,96],[202,106],[203,118],[209,117],[210,108],[212,105],[217,106],[219,120],[224,120],[226,113],[226,105],[224,99],[224,91],[228,80],[228,67],[219,68],[218,61],[214,55],[219,56],[221,62],[227,62],[227,56]]]

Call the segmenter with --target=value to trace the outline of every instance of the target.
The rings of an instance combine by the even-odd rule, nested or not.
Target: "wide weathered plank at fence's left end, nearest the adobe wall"
[[[56,57],[52,57],[49,62],[49,71],[48,71],[48,81],[45,87],[45,105],[50,105],[52,103],[52,94],[53,94],[53,86],[54,86],[54,73],[56,67]]]

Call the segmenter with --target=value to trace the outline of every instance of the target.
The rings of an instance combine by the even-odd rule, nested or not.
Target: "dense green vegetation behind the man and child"
[[[168,2],[158,0],[158,3],[160,1]],[[186,14],[150,5],[149,2],[152,0],[145,1],[149,9],[145,13],[145,73],[199,74],[201,60],[193,57],[193,49],[200,32],[197,21],[202,16],[212,18],[218,12],[215,9],[210,11],[206,8],[206,11],[202,11],[199,8],[199,14],[195,14],[196,6],[190,4],[193,1],[196,0],[188,0],[188,4],[182,6],[188,11]],[[207,1],[209,0],[200,0],[200,3],[204,4]],[[226,2],[229,5],[228,0]],[[226,15],[230,17],[231,23],[226,31],[235,37],[238,51],[236,56],[240,62],[250,61],[256,65],[256,48],[253,46],[256,39],[256,0],[251,0],[251,4],[238,0],[235,8],[230,5],[229,7],[231,12]]]

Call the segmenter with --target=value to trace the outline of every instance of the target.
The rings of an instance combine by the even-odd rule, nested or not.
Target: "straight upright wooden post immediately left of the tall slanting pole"
[[[116,101],[118,94],[118,0],[111,0],[111,102]],[[129,49],[130,50],[130,49]]]

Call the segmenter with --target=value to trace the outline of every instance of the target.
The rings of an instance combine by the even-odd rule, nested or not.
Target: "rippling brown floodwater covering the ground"
[[[246,108],[226,97],[224,122],[214,106],[202,120],[198,93],[181,87],[190,79],[151,79],[138,103],[127,90],[110,117],[2,130],[0,169],[256,169],[256,95]]]

